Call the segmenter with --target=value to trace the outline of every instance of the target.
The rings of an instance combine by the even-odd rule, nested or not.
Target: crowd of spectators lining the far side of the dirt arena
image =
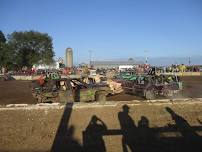
[[[135,73],[148,73],[151,69],[151,65],[149,64],[141,64],[141,65],[135,65],[132,69],[125,69],[125,71],[134,71]],[[93,67],[92,67],[93,68]],[[88,74],[90,69],[88,67],[73,67],[73,68],[63,68],[62,70],[59,70],[61,74],[69,75],[69,74],[82,74],[86,73]],[[202,66],[199,65],[192,65],[187,66],[184,64],[179,65],[170,65],[170,66],[164,66],[164,67],[155,67],[156,71],[159,73],[166,73],[166,72],[201,72]],[[0,69],[0,74],[10,73],[12,75],[40,75],[45,74],[49,70],[43,70],[43,69],[34,69],[34,68],[27,68],[22,67],[20,70],[14,70],[14,71],[8,71],[6,68]],[[57,70],[58,71],[58,70]],[[97,69],[97,73],[106,74],[107,71],[116,71],[119,72],[118,68],[111,68],[111,69]]]

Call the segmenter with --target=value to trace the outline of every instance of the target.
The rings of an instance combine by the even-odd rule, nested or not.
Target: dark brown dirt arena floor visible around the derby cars
[[[178,98],[201,98],[202,97],[202,76],[181,77],[183,91]],[[129,101],[144,100],[142,97],[119,94],[110,96],[108,101]],[[4,81],[0,82],[0,104],[27,103],[33,104],[36,101],[32,98],[30,81]]]

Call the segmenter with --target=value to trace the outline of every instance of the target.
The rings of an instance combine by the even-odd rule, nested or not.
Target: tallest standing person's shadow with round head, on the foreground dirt
[[[127,105],[123,105],[123,111],[118,113],[118,119],[121,126],[121,130],[123,132],[122,138],[122,146],[123,151],[127,152],[127,146],[130,148],[132,152],[135,151],[135,129],[136,125],[133,119],[129,116],[129,107]]]

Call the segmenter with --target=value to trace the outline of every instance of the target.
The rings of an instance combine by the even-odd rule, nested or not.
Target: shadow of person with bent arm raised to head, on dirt
[[[97,116],[93,115],[89,125],[85,130],[84,147],[88,152],[106,152],[103,132],[107,131],[105,123]]]

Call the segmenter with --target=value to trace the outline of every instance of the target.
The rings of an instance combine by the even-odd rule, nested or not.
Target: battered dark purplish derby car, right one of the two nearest
[[[173,97],[182,90],[182,82],[175,75],[137,75],[122,81],[122,87],[125,93],[152,100],[157,96]]]

